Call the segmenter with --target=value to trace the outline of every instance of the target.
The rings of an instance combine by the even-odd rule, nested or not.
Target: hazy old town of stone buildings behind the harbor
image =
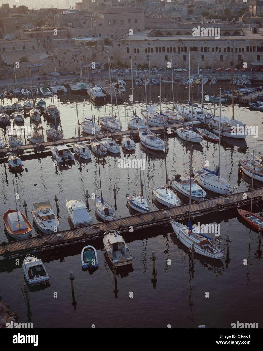
[[[193,28],[220,35],[193,36]],[[208,31],[207,31],[208,29]],[[263,1],[145,1],[99,0],[76,2],[75,8],[29,9],[2,4],[0,59],[2,72],[25,77],[28,68],[38,74],[80,67],[138,68],[173,66],[192,68],[263,65]],[[19,65],[17,65],[19,62]],[[18,67],[19,66],[19,67]],[[93,67],[94,68],[94,67]],[[13,73],[12,73],[13,74]]]

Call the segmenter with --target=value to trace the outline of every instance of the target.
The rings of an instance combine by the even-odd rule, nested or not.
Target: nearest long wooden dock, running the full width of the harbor
[[[262,203],[262,188],[253,191],[253,203]],[[207,199],[198,203],[191,204],[192,217],[202,216],[208,213],[246,206],[250,203],[250,198],[243,199],[244,192],[234,193],[228,197],[217,197]],[[0,256],[6,258],[16,257],[21,254],[33,253],[38,251],[49,250],[56,246],[67,246],[74,243],[86,241],[88,239],[102,238],[104,232],[108,230],[117,230],[118,232],[127,232],[127,235],[132,236],[133,233],[140,229],[147,229],[160,224],[168,224],[170,219],[178,221],[187,218],[189,204],[175,206],[163,210],[156,210],[149,213],[139,214],[138,216],[130,216],[121,219],[115,219],[108,222],[91,224],[88,226],[69,229],[58,233],[37,234],[37,236],[16,240],[10,242],[2,242],[0,244]],[[217,217],[215,217],[216,220]],[[133,232],[130,232],[131,226]]]

